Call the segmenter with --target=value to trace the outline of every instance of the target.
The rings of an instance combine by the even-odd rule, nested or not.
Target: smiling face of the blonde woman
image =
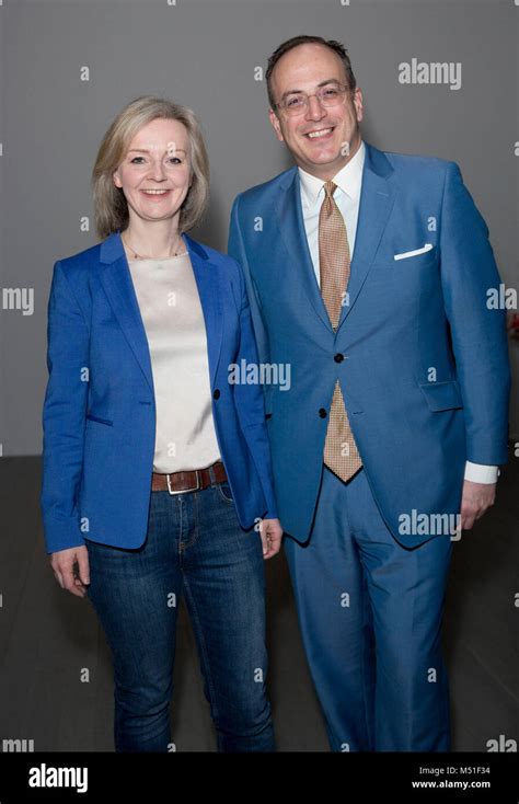
[[[114,172],[130,220],[178,218],[192,180],[188,152],[187,129],[178,120],[157,118],[134,137]]]

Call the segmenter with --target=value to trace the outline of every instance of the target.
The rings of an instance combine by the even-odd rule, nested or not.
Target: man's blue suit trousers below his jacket
[[[332,750],[450,750],[441,652],[450,537],[402,547],[366,471],[344,483],[324,467],[310,539],[284,541]]]

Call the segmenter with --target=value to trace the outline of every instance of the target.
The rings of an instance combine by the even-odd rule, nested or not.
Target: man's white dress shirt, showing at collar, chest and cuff
[[[337,189],[334,200],[341,210],[348,234],[349,254],[353,260],[355,238],[357,234],[357,221],[359,216],[360,191],[362,187],[362,170],[366,159],[366,146],[364,141],[356,153],[344,168],[333,177]],[[319,214],[324,200],[324,182],[318,176],[299,168],[301,184],[301,206],[307,232],[308,245],[312,257],[315,279],[321,287],[321,273],[319,265]],[[465,480],[473,483],[495,483],[499,470],[497,467],[488,467],[483,463],[465,463]]]

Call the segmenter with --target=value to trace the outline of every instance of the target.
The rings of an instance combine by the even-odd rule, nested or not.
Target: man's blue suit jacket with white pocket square
[[[299,541],[310,533],[337,379],[374,498],[407,547],[428,537],[401,535],[402,515],[458,514],[465,460],[506,461],[505,311],[486,307],[499,285],[487,236],[455,163],[366,143],[349,299],[334,333],[297,168],[235,199],[229,253],[245,272],[260,357],[291,367],[290,390],[265,394],[279,516]]]

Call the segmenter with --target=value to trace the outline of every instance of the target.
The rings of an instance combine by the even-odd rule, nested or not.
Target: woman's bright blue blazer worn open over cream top
[[[243,274],[184,236],[206,324],[212,414],[238,518],[276,517],[263,392],[228,366],[257,364]],[[148,341],[116,232],[54,267],[41,505],[47,552],[146,538],[155,443]],[[217,393],[219,391],[219,393]]]

